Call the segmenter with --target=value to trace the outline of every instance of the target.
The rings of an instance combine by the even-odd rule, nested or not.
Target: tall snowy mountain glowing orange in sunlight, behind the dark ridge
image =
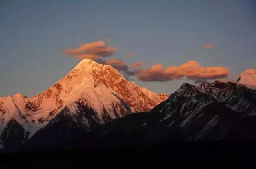
[[[0,98],[0,149],[12,147],[10,139],[22,143],[38,130],[58,125],[66,126],[67,130],[76,126],[88,132],[115,118],[149,112],[167,98],[166,94],[142,90],[110,65],[84,59],[37,96],[15,94]],[[15,136],[6,131],[18,133]]]

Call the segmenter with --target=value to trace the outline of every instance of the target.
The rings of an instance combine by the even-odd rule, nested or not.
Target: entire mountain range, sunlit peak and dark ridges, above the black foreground
[[[239,83],[184,83],[168,96],[85,59],[33,98],[0,98],[0,146],[28,151],[255,139],[256,90]]]

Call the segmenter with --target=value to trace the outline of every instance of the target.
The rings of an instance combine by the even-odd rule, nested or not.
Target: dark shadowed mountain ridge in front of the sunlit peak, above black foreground
[[[198,86],[184,83],[150,113],[129,114],[74,137],[67,132],[69,139],[65,141],[53,136],[60,133],[58,127],[40,130],[28,140],[25,149],[256,139],[256,116],[252,113],[255,92],[232,82],[204,82]]]

